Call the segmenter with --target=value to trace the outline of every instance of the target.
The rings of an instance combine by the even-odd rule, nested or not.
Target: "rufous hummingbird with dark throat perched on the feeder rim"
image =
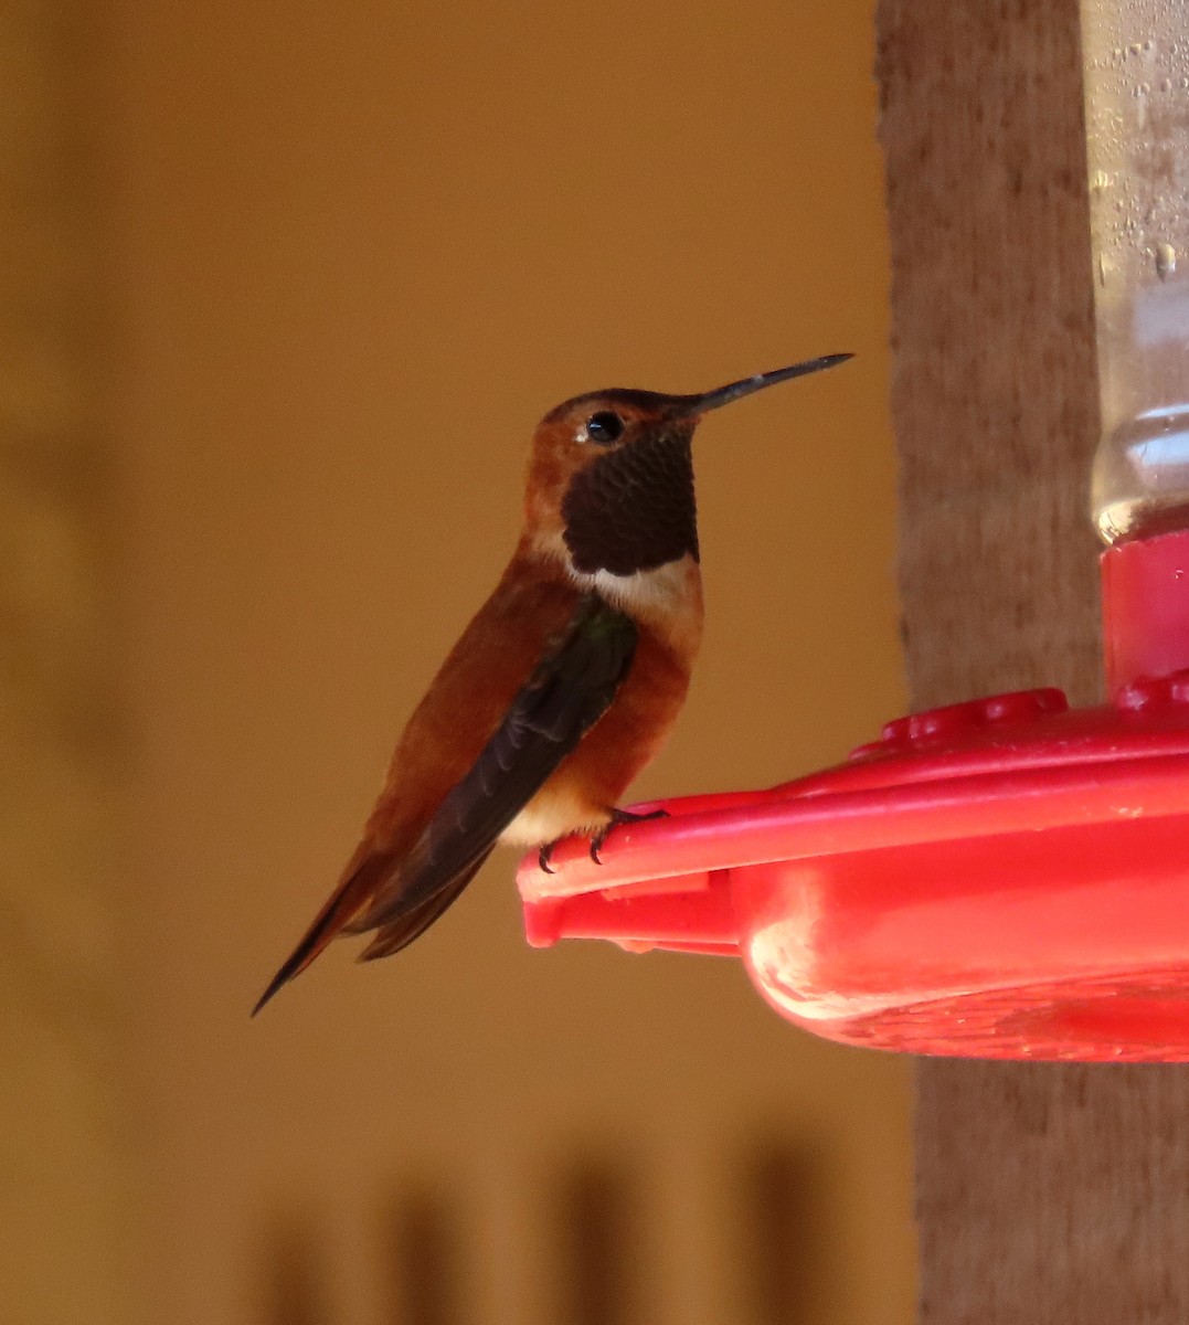
[[[335,890],[253,1016],[339,934],[360,961],[418,938],[497,844],[536,847],[654,815],[617,808],[686,698],[702,639],[692,437],[702,416],[851,358],[702,395],[614,388],[551,409],[499,583],[413,710]]]

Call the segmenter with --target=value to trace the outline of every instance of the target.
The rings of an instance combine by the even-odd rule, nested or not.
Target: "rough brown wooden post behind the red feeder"
[[[1076,0],[880,0],[916,706],[1099,689]],[[1189,1320],[1189,1069],[922,1060],[924,1325]]]

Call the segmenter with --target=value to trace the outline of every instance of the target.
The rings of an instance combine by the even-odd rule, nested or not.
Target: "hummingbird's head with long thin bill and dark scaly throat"
[[[563,401],[532,439],[526,533],[584,575],[696,560],[691,443],[702,416],[849,358],[825,355],[694,396],[614,388]]]

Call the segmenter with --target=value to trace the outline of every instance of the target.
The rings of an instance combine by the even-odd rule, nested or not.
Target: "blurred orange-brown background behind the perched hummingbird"
[[[497,853],[248,1011],[511,550],[538,417],[696,444],[642,799],[903,704],[869,0],[0,13],[0,1310],[904,1325],[906,1064],[740,966],[526,949]]]

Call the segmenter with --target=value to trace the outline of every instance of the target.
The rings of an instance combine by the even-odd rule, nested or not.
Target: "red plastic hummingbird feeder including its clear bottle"
[[[647,806],[667,818],[617,828],[601,865],[579,839],[553,874],[526,857],[534,946],[737,957],[783,1016],[869,1048],[1189,1060],[1189,220],[1120,93],[1120,62],[1153,44],[1100,17],[1084,37],[1110,701],[1038,689],[916,713],[822,772]],[[1189,93],[1144,86],[1186,102],[1165,119],[1189,179]]]

